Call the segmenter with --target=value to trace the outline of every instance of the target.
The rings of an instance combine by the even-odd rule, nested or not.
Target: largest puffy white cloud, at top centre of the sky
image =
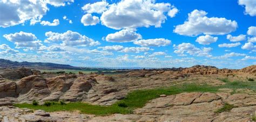
[[[102,13],[100,21],[112,29],[161,26],[166,20],[166,12],[174,8],[170,3],[154,3],[151,0],[123,0],[109,5]],[[174,15],[173,15],[174,16]]]

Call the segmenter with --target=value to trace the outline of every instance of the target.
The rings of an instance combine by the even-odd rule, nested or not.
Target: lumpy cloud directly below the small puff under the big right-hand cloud
[[[206,56],[206,57],[212,57],[210,55],[210,52],[212,51],[212,48],[203,48],[199,49],[196,48],[193,44],[190,43],[182,43],[177,46],[174,46],[174,53],[177,53],[180,56],[184,56],[184,53],[188,53],[192,56]]]

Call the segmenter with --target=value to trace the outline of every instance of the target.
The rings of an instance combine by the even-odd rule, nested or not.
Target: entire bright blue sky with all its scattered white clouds
[[[253,0],[0,0],[0,57],[87,67],[256,64]]]

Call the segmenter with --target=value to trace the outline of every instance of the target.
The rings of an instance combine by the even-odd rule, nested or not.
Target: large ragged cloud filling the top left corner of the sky
[[[6,28],[30,21],[30,25],[41,22],[46,12],[47,4],[64,6],[73,0],[47,0],[47,1],[0,1],[0,27]]]

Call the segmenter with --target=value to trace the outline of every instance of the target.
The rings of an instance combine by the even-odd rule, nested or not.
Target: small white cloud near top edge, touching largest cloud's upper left
[[[82,7],[82,9],[87,13],[102,13],[106,10],[107,5],[109,5],[109,3],[107,3],[106,1],[101,1],[92,4],[86,4]]]

